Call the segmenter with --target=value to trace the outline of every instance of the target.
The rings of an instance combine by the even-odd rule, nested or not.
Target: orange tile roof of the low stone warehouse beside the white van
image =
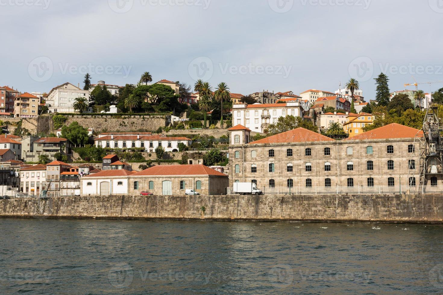
[[[218,172],[205,165],[169,165],[169,166],[154,166],[144,171],[137,172],[134,176],[175,176],[175,175],[213,175],[224,176],[225,174]]]

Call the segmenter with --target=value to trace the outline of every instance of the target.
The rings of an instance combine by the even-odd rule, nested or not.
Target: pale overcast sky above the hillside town
[[[366,100],[380,72],[392,91],[443,80],[442,0],[0,0],[0,24],[0,86],[21,92],[83,87],[86,71],[242,94],[334,92],[354,77]]]

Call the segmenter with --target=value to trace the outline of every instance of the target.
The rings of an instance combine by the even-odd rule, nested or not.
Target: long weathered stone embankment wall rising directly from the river
[[[443,195],[99,196],[0,200],[0,217],[443,223]]]

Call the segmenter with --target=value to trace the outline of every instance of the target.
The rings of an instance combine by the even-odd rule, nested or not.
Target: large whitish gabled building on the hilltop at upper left
[[[67,82],[51,89],[46,105],[53,113],[74,113],[76,111],[72,105],[78,97],[85,97],[89,101],[89,90],[83,90]]]

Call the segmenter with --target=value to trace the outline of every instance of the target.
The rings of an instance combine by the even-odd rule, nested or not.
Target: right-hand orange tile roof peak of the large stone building
[[[415,138],[415,136],[423,136],[423,131],[392,123],[359,135],[356,135],[345,140],[360,140],[360,139],[388,139],[388,138]]]

